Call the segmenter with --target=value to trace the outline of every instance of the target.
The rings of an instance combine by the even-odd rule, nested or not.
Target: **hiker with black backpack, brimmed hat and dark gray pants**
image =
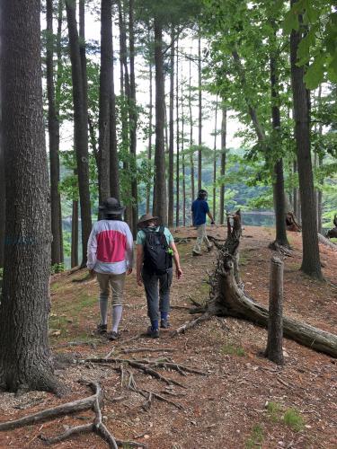
[[[157,339],[159,319],[161,328],[170,326],[173,260],[178,279],[182,277],[182,268],[173,235],[166,227],[159,226],[159,217],[145,214],[139,218],[137,226],[137,285],[145,287],[147,315],[151,321],[147,335]]]

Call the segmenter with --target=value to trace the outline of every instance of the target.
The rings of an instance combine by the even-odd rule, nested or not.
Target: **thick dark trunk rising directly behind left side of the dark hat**
[[[111,0],[101,2],[101,73],[98,139],[98,180],[100,202],[110,198],[110,105],[112,84]]]

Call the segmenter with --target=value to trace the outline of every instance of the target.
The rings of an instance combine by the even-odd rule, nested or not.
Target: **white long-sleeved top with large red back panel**
[[[120,275],[133,264],[133,238],[129,225],[120,220],[100,220],[88,241],[88,269]]]

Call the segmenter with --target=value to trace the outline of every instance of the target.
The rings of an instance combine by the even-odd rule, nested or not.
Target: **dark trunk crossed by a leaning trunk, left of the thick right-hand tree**
[[[276,32],[276,31],[275,31]],[[279,112],[279,74],[276,55],[270,56],[270,86],[271,86],[271,122],[274,132],[274,142],[279,146],[280,140],[280,112]],[[274,165],[274,208],[276,218],[276,238],[275,243],[288,247],[287,229],[286,229],[286,204],[283,177],[283,160],[279,160]]]

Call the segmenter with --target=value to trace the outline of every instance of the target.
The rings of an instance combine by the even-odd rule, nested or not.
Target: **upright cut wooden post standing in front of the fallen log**
[[[270,261],[270,301],[268,319],[268,342],[266,357],[277,365],[283,365],[283,267],[282,260]]]

